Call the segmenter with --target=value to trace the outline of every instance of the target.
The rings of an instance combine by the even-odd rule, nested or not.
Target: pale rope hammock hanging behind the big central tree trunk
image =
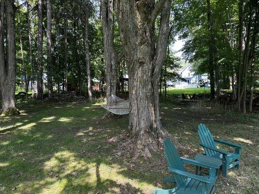
[[[124,100],[112,94],[107,101],[109,104],[101,105],[107,111],[114,114],[129,113],[129,100]]]

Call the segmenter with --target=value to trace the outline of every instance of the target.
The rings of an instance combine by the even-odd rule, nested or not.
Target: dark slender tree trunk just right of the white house
[[[214,58],[213,58],[213,55],[215,53],[213,48],[214,38],[213,38],[213,29],[212,29],[212,21],[211,21],[210,0],[207,0],[207,21],[208,21],[208,31],[209,31],[208,68],[209,68],[209,83],[210,83],[210,99],[213,100],[215,98]],[[217,75],[218,75],[218,72],[217,72]]]

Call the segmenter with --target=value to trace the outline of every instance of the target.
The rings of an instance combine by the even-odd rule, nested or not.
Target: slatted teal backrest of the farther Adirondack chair
[[[200,137],[200,140],[201,140],[202,144],[217,148],[217,146],[214,142],[214,139],[213,139],[209,129],[207,129],[206,125],[199,124],[198,134],[199,134],[199,137]],[[214,156],[215,154],[217,154],[216,151],[207,149],[206,147],[204,147],[204,151],[205,151],[207,156]]]

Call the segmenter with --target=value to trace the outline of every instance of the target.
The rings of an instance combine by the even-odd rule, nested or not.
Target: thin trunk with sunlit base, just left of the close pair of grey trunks
[[[32,88],[32,98],[35,98],[34,91],[34,65],[33,65],[33,52],[32,52],[32,36],[31,36],[31,22],[30,22],[30,10],[29,3],[27,0],[27,23],[28,23],[28,34],[29,34],[29,47],[30,47],[30,64],[31,64],[31,88]]]

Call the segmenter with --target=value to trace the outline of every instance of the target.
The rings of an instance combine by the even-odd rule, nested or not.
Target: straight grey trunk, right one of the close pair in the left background
[[[47,0],[47,81],[48,81],[48,97],[53,97],[53,83],[52,83],[52,40],[51,40],[51,29],[52,29],[52,4],[51,0]]]

